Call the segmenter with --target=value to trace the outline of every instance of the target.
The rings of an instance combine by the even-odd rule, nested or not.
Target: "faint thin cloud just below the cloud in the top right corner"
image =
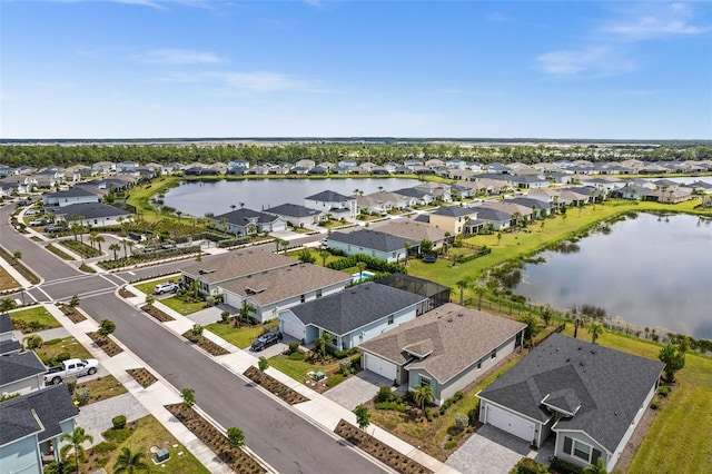
[[[630,72],[635,62],[606,47],[551,51],[536,58],[541,70],[553,76],[607,77]]]

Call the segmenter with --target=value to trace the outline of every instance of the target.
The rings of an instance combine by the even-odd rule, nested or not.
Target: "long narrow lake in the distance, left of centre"
[[[216,216],[231,210],[230,205],[261,210],[280,204],[291,203],[304,206],[304,198],[332,190],[350,196],[355,189],[370,194],[384,190],[408,188],[417,185],[417,179],[400,178],[344,178],[344,179],[246,179],[237,181],[189,181],[166,192],[164,204],[184,214],[202,217],[206,213]]]

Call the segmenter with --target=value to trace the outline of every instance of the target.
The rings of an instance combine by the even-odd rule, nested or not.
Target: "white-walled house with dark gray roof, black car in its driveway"
[[[415,319],[419,316],[417,306],[425,299],[367,282],[279,312],[279,329],[304,344],[328,333],[337,349],[348,349]]]

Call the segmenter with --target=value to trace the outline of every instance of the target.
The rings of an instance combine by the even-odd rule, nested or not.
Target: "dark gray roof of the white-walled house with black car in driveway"
[[[291,308],[304,325],[345,335],[426,298],[369,282]]]

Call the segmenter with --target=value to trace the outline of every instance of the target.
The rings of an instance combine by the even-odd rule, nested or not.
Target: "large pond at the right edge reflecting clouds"
[[[643,327],[712,339],[712,223],[641,214],[578,241],[580,251],[545,251],[513,290],[555,307],[591,304]]]

